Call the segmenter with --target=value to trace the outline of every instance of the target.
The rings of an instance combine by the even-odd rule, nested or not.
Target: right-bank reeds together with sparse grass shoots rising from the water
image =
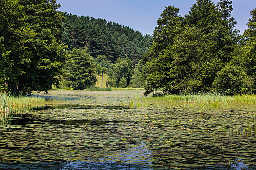
[[[232,108],[235,105],[254,106],[256,104],[256,95],[245,94],[226,96],[218,93],[211,94],[182,94],[182,95],[165,95],[158,97],[133,97],[130,107],[149,107],[149,106],[175,106],[182,105],[190,108]]]

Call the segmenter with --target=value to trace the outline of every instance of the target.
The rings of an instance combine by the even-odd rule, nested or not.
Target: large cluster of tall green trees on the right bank
[[[184,17],[165,8],[144,55],[145,95],[256,92],[256,9],[243,35],[234,29],[232,1],[197,0]]]

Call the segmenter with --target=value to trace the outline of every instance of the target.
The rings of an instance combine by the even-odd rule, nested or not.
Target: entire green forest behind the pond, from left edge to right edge
[[[109,87],[145,95],[256,92],[256,9],[241,35],[232,1],[197,0],[182,17],[167,6],[154,34],[58,11],[56,0],[1,0],[0,91]]]

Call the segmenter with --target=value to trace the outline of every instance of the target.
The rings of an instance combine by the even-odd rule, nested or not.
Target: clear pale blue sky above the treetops
[[[213,0],[217,3],[219,0]],[[184,16],[196,0],[57,0],[59,11],[114,21],[129,26],[142,34],[153,34],[157,20],[165,6],[174,5]],[[233,0],[232,16],[236,29],[241,33],[247,28],[250,11],[256,8],[256,0]]]

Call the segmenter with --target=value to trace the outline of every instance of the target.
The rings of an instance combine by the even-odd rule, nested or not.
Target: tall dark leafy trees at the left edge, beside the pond
[[[56,81],[64,49],[59,6],[56,0],[1,0],[1,88],[27,93]]]

